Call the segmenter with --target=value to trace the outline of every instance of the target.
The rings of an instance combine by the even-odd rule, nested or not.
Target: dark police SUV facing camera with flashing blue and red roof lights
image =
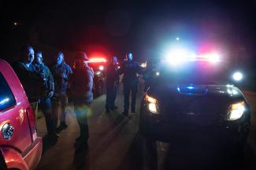
[[[161,57],[141,101],[141,134],[164,142],[206,137],[243,149],[250,106],[236,87],[243,74],[232,74],[227,63],[215,52],[192,54],[178,49]]]

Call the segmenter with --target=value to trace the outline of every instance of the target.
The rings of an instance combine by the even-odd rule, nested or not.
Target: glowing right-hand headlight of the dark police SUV
[[[231,104],[228,111],[228,121],[235,121],[241,118],[246,109],[245,106],[246,104],[244,102]]]

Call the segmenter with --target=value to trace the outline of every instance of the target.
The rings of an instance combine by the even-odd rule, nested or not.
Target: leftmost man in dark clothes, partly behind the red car
[[[26,45],[20,49],[20,60],[12,64],[13,70],[20,79],[28,101],[34,111],[35,125],[37,122],[38,99],[43,96],[43,79],[35,71],[32,62],[34,61],[34,49]]]

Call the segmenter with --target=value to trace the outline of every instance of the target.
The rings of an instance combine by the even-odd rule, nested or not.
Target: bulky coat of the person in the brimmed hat
[[[90,104],[93,100],[93,77],[91,67],[75,68],[71,79],[72,100],[74,103]]]

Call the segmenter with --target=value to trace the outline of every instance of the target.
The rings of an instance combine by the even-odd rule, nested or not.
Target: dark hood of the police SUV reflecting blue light
[[[229,85],[160,85],[147,93],[158,99],[166,120],[187,124],[193,114],[198,125],[212,125],[224,119],[230,104],[244,99],[238,88]]]

